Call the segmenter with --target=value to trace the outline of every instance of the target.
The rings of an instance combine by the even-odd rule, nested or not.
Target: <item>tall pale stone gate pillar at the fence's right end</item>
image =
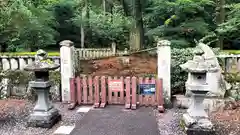
[[[166,105],[171,105],[171,42],[160,40],[157,43],[158,78],[163,79],[163,96]]]

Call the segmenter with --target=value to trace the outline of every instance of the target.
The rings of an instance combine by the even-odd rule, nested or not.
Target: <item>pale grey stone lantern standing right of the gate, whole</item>
[[[208,119],[208,114],[204,110],[203,100],[209,92],[207,83],[207,73],[217,72],[218,67],[205,60],[203,50],[196,48],[193,60],[187,61],[180,67],[188,72],[186,89],[192,93],[192,103],[183,115],[182,124],[185,127],[187,135],[213,135],[214,126]]]

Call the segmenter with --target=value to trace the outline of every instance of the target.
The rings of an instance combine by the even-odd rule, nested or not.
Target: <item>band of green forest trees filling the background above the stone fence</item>
[[[216,47],[240,40],[238,0],[4,0],[0,2],[1,51],[58,49],[62,40],[76,47],[138,50],[155,38],[172,46],[194,40]]]

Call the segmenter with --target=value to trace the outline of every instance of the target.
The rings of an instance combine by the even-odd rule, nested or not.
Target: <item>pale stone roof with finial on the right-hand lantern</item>
[[[186,63],[180,65],[183,70],[190,73],[217,72],[219,70],[214,62],[204,58],[204,51],[201,48],[196,47],[193,53],[193,60],[188,60]]]

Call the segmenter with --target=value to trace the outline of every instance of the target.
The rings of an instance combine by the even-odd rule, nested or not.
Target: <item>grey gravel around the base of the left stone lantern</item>
[[[58,122],[51,129],[32,128],[26,126],[29,110],[33,109],[32,103],[27,103],[21,114],[12,115],[0,121],[0,135],[51,135],[59,126],[71,126],[83,117],[83,114],[76,113],[76,109],[69,111],[66,104],[54,103],[62,115],[62,121]]]

